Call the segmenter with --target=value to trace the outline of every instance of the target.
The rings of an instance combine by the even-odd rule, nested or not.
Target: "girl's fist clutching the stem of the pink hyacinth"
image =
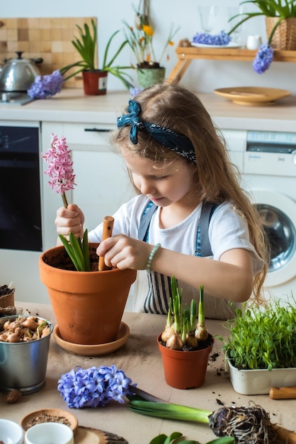
[[[67,237],[72,232],[76,238],[81,238],[84,235],[84,213],[75,204],[69,204],[67,208],[62,206],[57,210],[55,225],[58,234]]]

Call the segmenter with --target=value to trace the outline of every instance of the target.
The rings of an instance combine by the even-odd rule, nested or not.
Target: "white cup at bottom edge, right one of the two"
[[[74,444],[72,428],[62,423],[40,423],[25,432],[25,444]]]

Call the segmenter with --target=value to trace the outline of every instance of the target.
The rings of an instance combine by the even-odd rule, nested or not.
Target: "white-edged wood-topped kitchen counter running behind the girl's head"
[[[296,96],[266,106],[243,106],[216,94],[198,94],[219,128],[295,132]],[[63,89],[52,99],[36,100],[25,106],[0,104],[0,120],[62,121],[115,125],[130,94],[109,91],[106,96],[85,96],[82,89]]]

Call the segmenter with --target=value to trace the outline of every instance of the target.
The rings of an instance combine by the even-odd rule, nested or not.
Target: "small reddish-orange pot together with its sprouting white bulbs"
[[[214,338],[205,328],[203,286],[200,286],[198,322],[196,303],[192,299],[190,309],[182,307],[182,292],[176,278],[171,278],[171,300],[166,328],[158,336],[157,343],[164,365],[166,383],[176,389],[200,387],[205,382],[207,362],[212,351]],[[173,310],[173,320],[171,318]]]

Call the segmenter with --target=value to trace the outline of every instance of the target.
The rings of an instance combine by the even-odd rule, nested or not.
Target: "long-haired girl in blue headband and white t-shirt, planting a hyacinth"
[[[175,84],[145,89],[118,118],[111,142],[138,195],[113,215],[111,238],[101,242],[100,224],[89,240],[101,243],[109,267],[145,270],[134,309],[167,313],[171,276],[188,304],[203,284],[207,318],[232,318],[252,292],[261,302],[264,233],[198,97]],[[70,204],[55,223],[57,233],[81,236],[84,214]]]

